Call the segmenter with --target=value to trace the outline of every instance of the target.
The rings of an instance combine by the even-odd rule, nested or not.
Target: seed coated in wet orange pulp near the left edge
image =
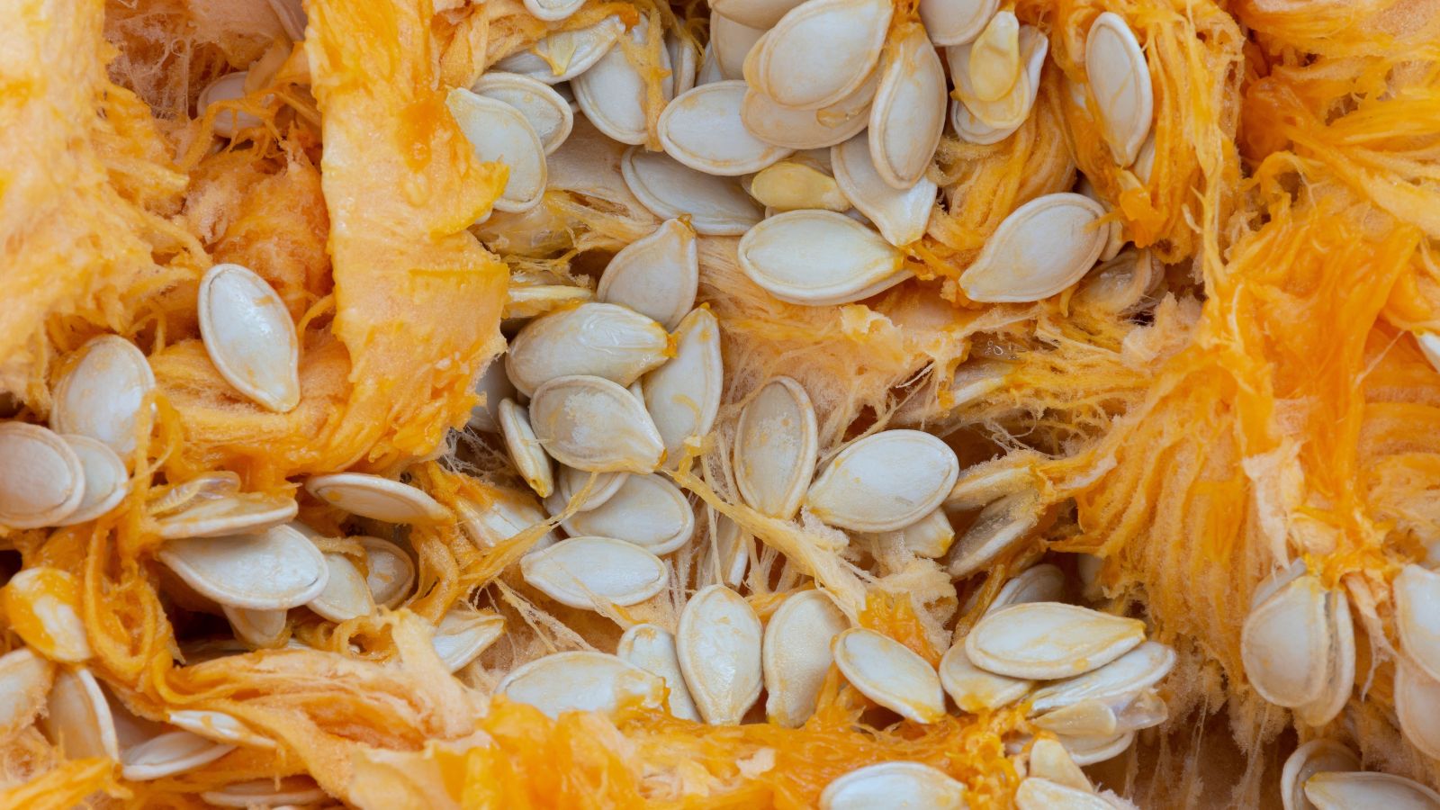
[[[69,571],[36,565],[0,588],[9,630],[53,662],[81,663],[94,651],[81,621],[81,581]]]

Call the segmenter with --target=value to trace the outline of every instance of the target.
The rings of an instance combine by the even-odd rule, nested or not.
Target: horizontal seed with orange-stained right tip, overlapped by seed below
[[[670,336],[649,317],[619,304],[588,303],[526,324],[510,342],[505,370],[526,396],[569,375],[629,385],[664,363],[668,350]]]

